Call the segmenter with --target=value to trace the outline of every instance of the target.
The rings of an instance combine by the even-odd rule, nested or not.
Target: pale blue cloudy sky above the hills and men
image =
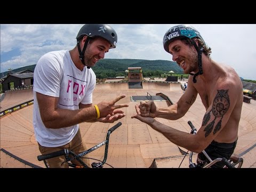
[[[188,24],[195,27],[207,46],[211,58],[233,67],[244,79],[256,80],[255,24]],[[71,50],[84,24],[1,24],[0,72],[35,65],[45,53]],[[166,31],[178,24],[111,24],[117,33],[116,49],[105,59],[170,60],[163,48]],[[138,66],[139,67],[139,66]]]

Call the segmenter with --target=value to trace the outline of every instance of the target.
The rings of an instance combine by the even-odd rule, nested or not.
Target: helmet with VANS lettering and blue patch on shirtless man
[[[189,25],[178,25],[178,26],[171,27],[164,34],[164,38],[163,38],[164,50],[169,53],[169,48],[168,48],[169,44],[174,40],[182,37],[188,37],[188,38],[198,37],[204,42],[204,39],[194,27],[191,27]]]

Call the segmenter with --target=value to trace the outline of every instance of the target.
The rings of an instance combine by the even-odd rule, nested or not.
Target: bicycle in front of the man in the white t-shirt
[[[92,168],[102,168],[104,164],[107,164],[109,165],[108,163],[106,163],[107,161],[107,156],[108,156],[108,143],[109,143],[109,137],[110,137],[110,134],[115,131],[117,129],[117,127],[121,126],[122,123],[119,122],[117,123],[116,125],[114,125],[113,127],[111,127],[108,132],[107,132],[107,136],[106,136],[106,140],[105,141],[102,141],[101,143],[99,143],[98,145],[95,145],[94,147],[90,148],[90,149],[87,149],[85,151],[83,151],[82,153],[79,153],[79,154],[75,154],[73,151],[71,150],[68,150],[68,149],[62,149],[62,150],[59,150],[59,151],[55,151],[53,153],[50,153],[50,154],[45,154],[45,155],[38,155],[37,156],[37,159],[38,161],[44,161],[44,164],[46,166],[46,168],[49,168],[49,165],[47,164],[47,162],[45,161],[46,159],[49,159],[49,158],[53,158],[53,157],[58,157],[58,156],[62,156],[64,155],[65,158],[66,158],[66,161],[62,162],[61,165],[63,165],[63,163],[68,163],[68,166],[69,167],[74,167],[74,168],[91,168],[89,166],[87,166],[81,158],[89,158],[89,157],[83,157],[84,155],[86,154],[89,154],[91,153],[92,151],[94,151],[95,149],[98,149],[99,147],[105,145],[105,154],[104,154],[104,158],[103,158],[103,161],[100,161],[98,159],[94,159],[94,158],[89,158],[89,159],[94,159],[96,161],[99,161],[99,163],[92,163],[91,166]],[[71,155],[71,156],[69,156]],[[71,161],[73,160],[77,160],[79,163],[82,164],[82,166],[78,166],[74,163],[72,163]],[[110,167],[114,168],[113,166],[109,165]]]

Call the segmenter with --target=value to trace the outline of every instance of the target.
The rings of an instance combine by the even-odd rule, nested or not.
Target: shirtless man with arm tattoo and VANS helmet
[[[132,118],[147,123],[176,145],[198,153],[197,164],[200,166],[209,163],[203,150],[212,159],[229,159],[238,139],[243,104],[241,79],[233,68],[210,58],[211,48],[206,46],[194,27],[178,25],[170,28],[164,35],[163,45],[184,74],[190,74],[187,90],[177,103],[165,108],[156,107],[153,101],[142,101],[135,106],[137,115]],[[183,117],[195,102],[197,94],[201,97],[206,112],[196,135],[155,120],[154,117],[170,120]],[[211,167],[223,166],[218,162]]]

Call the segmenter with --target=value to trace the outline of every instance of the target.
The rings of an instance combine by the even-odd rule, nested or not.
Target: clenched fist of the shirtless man
[[[154,101],[141,101],[139,105],[140,115],[142,117],[156,117],[157,109]]]

